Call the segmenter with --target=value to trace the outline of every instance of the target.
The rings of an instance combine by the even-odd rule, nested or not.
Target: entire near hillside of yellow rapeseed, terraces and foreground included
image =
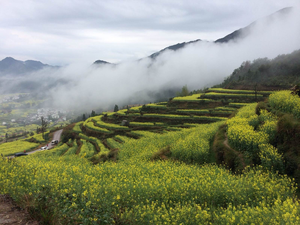
[[[299,224],[297,186],[274,145],[282,114],[217,91],[70,126],[67,143],[1,160],[0,191],[46,223]],[[298,116],[285,92],[270,104]]]

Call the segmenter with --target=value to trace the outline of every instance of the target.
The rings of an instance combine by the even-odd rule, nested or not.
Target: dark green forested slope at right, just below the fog
[[[258,84],[261,90],[291,88],[300,83],[300,49],[276,58],[244,61],[214,88],[248,89]]]

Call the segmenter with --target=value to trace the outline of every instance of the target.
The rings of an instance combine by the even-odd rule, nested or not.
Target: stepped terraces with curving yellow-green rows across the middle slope
[[[116,113],[104,112],[100,116],[79,122],[73,127],[73,132],[77,133],[78,138],[80,137],[77,154],[80,153],[82,140],[85,140],[95,147],[94,154],[89,151],[88,158],[98,155],[97,160],[99,160],[101,158],[99,152],[104,152],[103,157],[106,160],[107,153],[119,149],[125,142],[124,140],[149,137],[150,134],[182,131],[182,129],[195,127],[198,124],[225,122],[239,107],[254,101],[253,94],[249,91],[221,90],[220,88],[209,89],[209,91],[206,94],[173,98],[169,102],[119,110]],[[269,93],[260,94],[262,97],[262,94]],[[213,96],[214,99],[209,99],[209,96]],[[229,99],[228,96],[239,98]],[[22,112],[20,110],[11,112],[11,114],[16,113]],[[123,120],[128,121],[125,126],[121,125]],[[86,144],[84,146],[88,149]],[[89,148],[91,148],[90,145]]]

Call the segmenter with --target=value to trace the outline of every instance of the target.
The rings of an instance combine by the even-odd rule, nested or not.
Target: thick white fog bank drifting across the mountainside
[[[180,90],[185,84],[190,90],[218,84],[243,61],[274,58],[299,49],[299,24],[300,16],[293,10],[285,19],[260,21],[251,28],[250,35],[226,44],[199,41],[177,51],[165,51],[154,60],[143,58],[116,66],[71,64],[14,81],[6,77],[0,85],[4,90],[21,81],[39,85],[38,93],[54,99],[56,106],[84,111],[153,102],[153,93]]]

